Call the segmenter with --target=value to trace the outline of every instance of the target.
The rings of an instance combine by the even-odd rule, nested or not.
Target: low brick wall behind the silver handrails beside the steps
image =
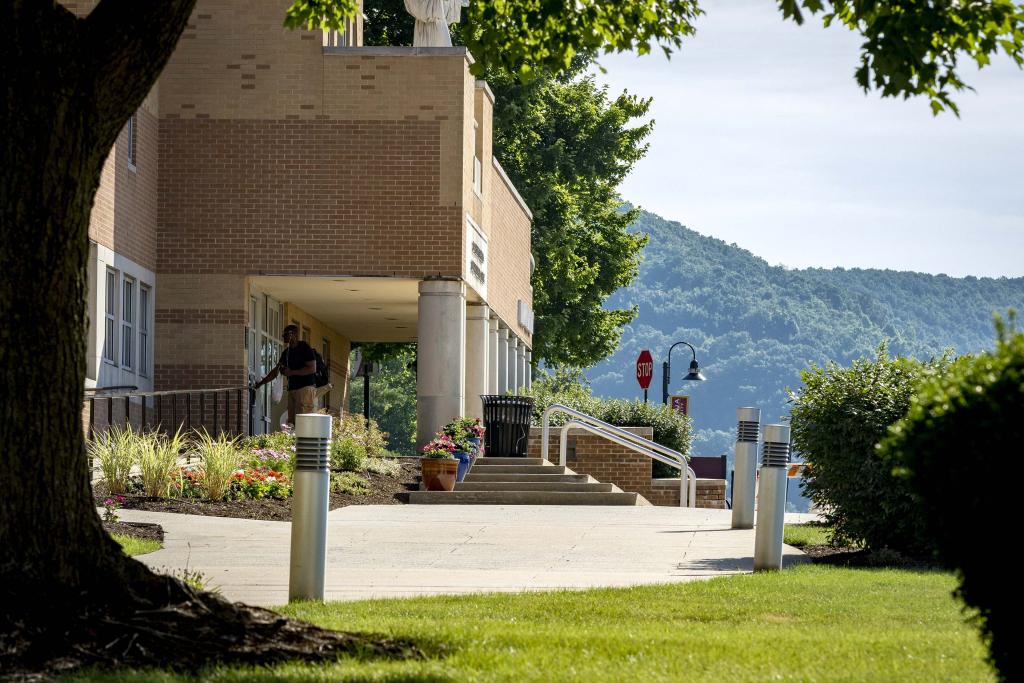
[[[643,438],[651,438],[650,427],[624,427]],[[540,427],[529,430],[529,457],[541,457]],[[560,427],[549,434],[548,458],[558,464]],[[581,429],[568,434],[566,466],[577,474],[589,474],[603,483],[613,483],[628,493],[643,496],[651,505],[679,506],[679,479],[652,479],[651,460],[647,456],[612,443]],[[696,507],[725,508],[725,479],[697,479]]]

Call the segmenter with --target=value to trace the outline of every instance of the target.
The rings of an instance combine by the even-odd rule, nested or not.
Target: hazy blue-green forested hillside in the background
[[[650,213],[632,229],[650,236],[640,276],[607,305],[636,304],[640,313],[615,354],[587,375],[596,394],[635,398],[642,395],[636,357],[650,349],[649,395],[660,400],[669,347],[692,344],[708,381],[680,381],[691,356],[679,346],[670,391],[691,396],[697,455],[731,451],[739,405],[758,405],[765,421],[777,422],[787,413],[786,387],[799,386],[800,371],[812,362],[846,364],[873,355],[882,342],[916,357],[979,351],[993,345],[993,312],[1024,307],[1024,279],[791,270]]]

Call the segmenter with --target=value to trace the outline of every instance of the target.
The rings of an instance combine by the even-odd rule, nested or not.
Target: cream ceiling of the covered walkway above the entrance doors
[[[419,280],[294,275],[253,275],[249,280],[353,342],[416,341]]]

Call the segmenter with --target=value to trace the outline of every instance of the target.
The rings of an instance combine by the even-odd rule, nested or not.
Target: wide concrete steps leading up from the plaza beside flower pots
[[[415,490],[411,504],[440,505],[650,505],[589,474],[540,458],[478,458],[455,490]]]

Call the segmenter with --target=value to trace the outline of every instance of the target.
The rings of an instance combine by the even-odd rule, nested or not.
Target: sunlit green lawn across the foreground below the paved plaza
[[[805,565],[634,589],[307,603],[283,611],[450,650],[424,661],[219,669],[203,680],[994,680],[953,586],[941,572]]]

